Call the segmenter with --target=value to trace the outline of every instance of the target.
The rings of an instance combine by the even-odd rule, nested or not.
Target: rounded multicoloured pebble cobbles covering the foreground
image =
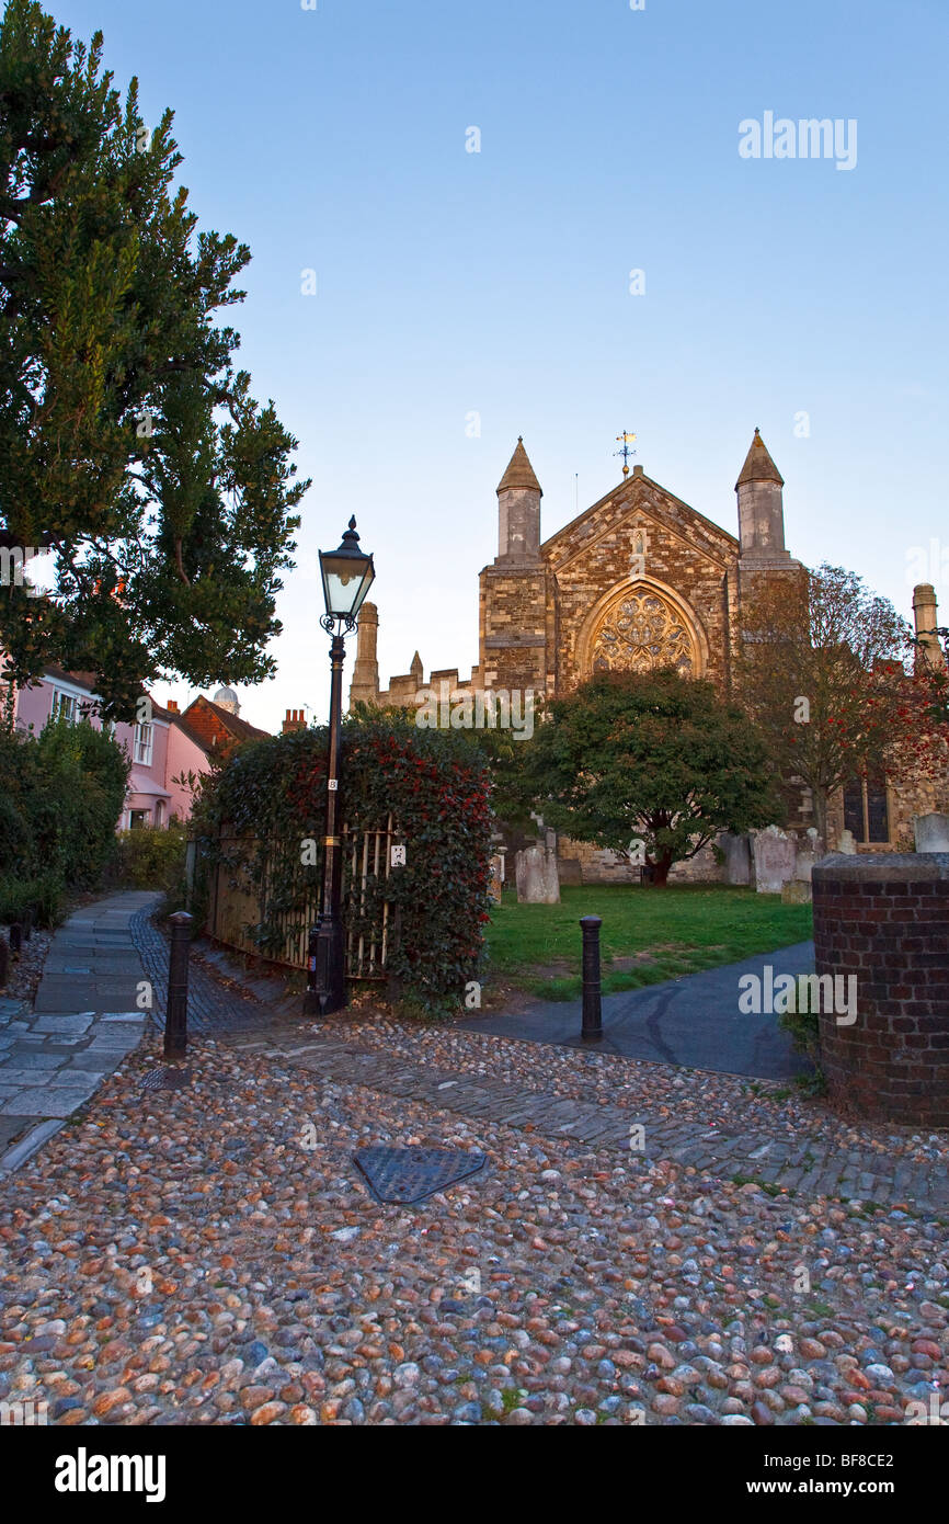
[[[149,1032],[3,1181],[0,1401],[69,1426],[734,1426],[949,1398],[932,1213],[772,1198],[583,1141],[586,1117],[532,1132],[492,1085],[452,1111],[460,1085],[416,1099],[338,1033],[264,1042],[200,1038],[189,1087],[151,1093]],[[487,1163],[384,1205],[353,1161],[375,1145]]]

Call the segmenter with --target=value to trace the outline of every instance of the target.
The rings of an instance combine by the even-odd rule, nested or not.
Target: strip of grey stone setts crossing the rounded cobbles
[[[752,1180],[803,1196],[861,1199],[877,1205],[909,1201],[917,1210],[949,1216],[949,1175],[943,1161],[894,1163],[879,1152],[850,1149],[842,1154],[833,1143],[760,1128],[722,1132],[695,1122],[631,1113],[625,1106],[544,1094],[504,1084],[492,1074],[407,1064],[401,1056],[347,1041],[338,1027],[312,1024],[306,1039],[283,1032],[235,1036],[230,1041],[245,1052],[300,1065],[323,1079],[364,1085],[385,1096],[544,1137],[573,1138],[597,1149],[617,1151],[634,1167],[670,1161],[701,1173]]]

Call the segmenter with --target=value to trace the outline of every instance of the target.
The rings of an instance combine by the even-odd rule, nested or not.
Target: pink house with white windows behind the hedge
[[[40,732],[52,715],[88,718],[101,730],[102,721],[91,710],[96,703],[93,681],[88,672],[46,668],[35,687],[18,689],[14,695],[17,730]],[[137,724],[110,724],[133,764],[117,831],[168,826],[172,815],[186,820],[190,814],[190,792],[174,780],[187,773],[200,776],[209,771],[207,748],[178,713],[174,700],[168,709],[161,709],[143,693],[140,709],[142,719]]]

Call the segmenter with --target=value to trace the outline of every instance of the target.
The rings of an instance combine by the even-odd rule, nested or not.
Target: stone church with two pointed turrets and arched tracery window
[[[480,575],[478,664],[460,680],[455,668],[434,669],[428,684],[416,652],[408,674],[379,687],[376,660],[378,610],[363,607],[350,709],[355,703],[414,704],[422,687],[459,693],[527,690],[556,696],[596,671],[676,666],[731,689],[737,654],[739,614],[757,578],[803,570],[784,546],[783,477],[759,430],[736,483],[737,536],[705,518],[646,475],[629,472],[599,503],[550,539],[541,539],[541,483],[522,439],[498,485],[498,555]],[[941,658],[935,593],[914,594],[917,634]],[[885,791],[885,785],[883,785]],[[864,789],[865,792],[865,789]],[[887,792],[887,791],[885,791]],[[806,826],[804,817],[797,821]],[[833,835],[844,824],[862,824],[858,844],[896,844],[899,802],[862,800],[856,809],[841,799],[833,811]],[[905,812],[905,811],[903,811]],[[621,881],[638,876],[611,852],[561,838],[561,876],[570,882]],[[672,878],[721,876],[707,849],[673,869]]]

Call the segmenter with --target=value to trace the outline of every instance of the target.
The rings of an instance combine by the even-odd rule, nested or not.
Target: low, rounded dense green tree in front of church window
[[[544,824],[618,853],[643,841],[657,885],[721,831],[780,811],[765,745],[710,681],[600,672],[547,715],[522,764]]]

